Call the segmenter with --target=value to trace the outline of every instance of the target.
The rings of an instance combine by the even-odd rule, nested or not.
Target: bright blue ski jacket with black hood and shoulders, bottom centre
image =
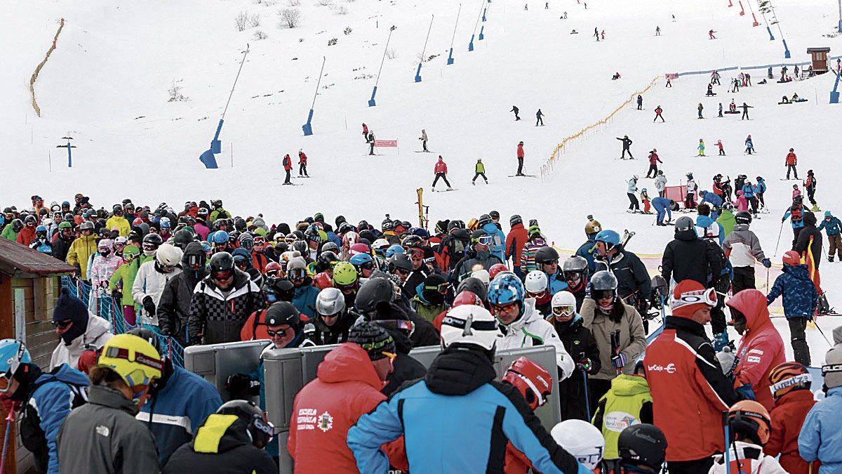
[[[393,393],[349,429],[360,472],[386,472],[381,444],[403,434],[412,472],[502,472],[511,441],[545,474],[589,473],[553,441],[520,392],[496,380],[488,356],[468,347],[446,348],[424,379]]]

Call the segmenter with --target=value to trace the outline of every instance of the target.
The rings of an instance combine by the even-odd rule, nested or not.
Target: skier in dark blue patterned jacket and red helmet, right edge
[[[783,273],[775,278],[775,284],[769,295],[766,296],[766,304],[772,304],[778,296],[784,297],[784,315],[790,326],[792,353],[796,362],[810,365],[810,347],[804,331],[807,328],[807,321],[813,319],[818,304],[818,291],[807,265],[802,264],[801,256],[795,250],[787,250],[783,256]]]

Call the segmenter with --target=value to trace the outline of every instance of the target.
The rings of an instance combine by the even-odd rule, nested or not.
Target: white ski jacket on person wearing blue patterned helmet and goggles
[[[523,315],[514,320],[509,326],[500,325],[497,335],[498,350],[519,349],[520,347],[534,347],[549,345],[556,348],[556,364],[561,371],[560,378],[567,379],[573,374],[575,363],[564,348],[562,340],[558,338],[556,329],[544,320],[541,312],[535,309],[535,299],[523,300]]]

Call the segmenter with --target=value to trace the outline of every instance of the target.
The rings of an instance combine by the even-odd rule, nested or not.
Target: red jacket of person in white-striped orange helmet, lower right
[[[798,434],[801,433],[807,412],[816,404],[813,392],[795,390],[775,401],[769,412],[772,417],[769,441],[763,447],[766,455],[781,455],[781,467],[790,474],[809,474],[810,463],[798,455]],[[813,462],[813,472],[818,473],[818,461]]]

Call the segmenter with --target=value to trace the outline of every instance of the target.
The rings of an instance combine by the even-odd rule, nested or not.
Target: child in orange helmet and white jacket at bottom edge
[[[772,428],[769,412],[763,405],[752,400],[738,401],[728,410],[727,423],[731,428],[731,439],[725,449],[732,455],[730,466],[725,465],[724,455],[714,455],[713,466],[708,471],[710,474],[786,474],[774,457],[763,454],[763,446],[769,441]]]

